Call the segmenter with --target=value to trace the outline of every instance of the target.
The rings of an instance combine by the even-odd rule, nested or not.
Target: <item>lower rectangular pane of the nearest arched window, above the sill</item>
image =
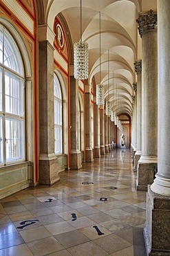
[[[6,161],[23,159],[23,121],[6,120]]]

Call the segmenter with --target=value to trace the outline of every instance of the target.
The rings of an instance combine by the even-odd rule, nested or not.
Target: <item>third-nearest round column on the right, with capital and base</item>
[[[135,65],[135,70],[137,74],[137,84],[138,84],[138,91],[137,91],[137,148],[136,148],[136,153],[134,156],[134,172],[137,172],[137,165],[138,161],[141,156],[141,118],[142,118],[142,90],[141,90],[141,83],[142,83],[142,61],[141,60],[136,60],[134,63]]]

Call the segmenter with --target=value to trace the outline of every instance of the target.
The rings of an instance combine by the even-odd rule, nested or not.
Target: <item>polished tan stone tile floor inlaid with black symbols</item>
[[[0,201],[0,256],[146,256],[146,192],[136,191],[129,149],[60,177]]]

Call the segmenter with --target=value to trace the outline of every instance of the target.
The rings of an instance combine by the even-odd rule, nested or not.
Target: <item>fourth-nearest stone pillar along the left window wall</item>
[[[94,103],[94,157],[100,157],[100,115],[96,100]]]

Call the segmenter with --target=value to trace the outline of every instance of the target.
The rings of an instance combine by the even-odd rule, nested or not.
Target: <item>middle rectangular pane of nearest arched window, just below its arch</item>
[[[6,113],[23,116],[23,81],[6,72]]]

